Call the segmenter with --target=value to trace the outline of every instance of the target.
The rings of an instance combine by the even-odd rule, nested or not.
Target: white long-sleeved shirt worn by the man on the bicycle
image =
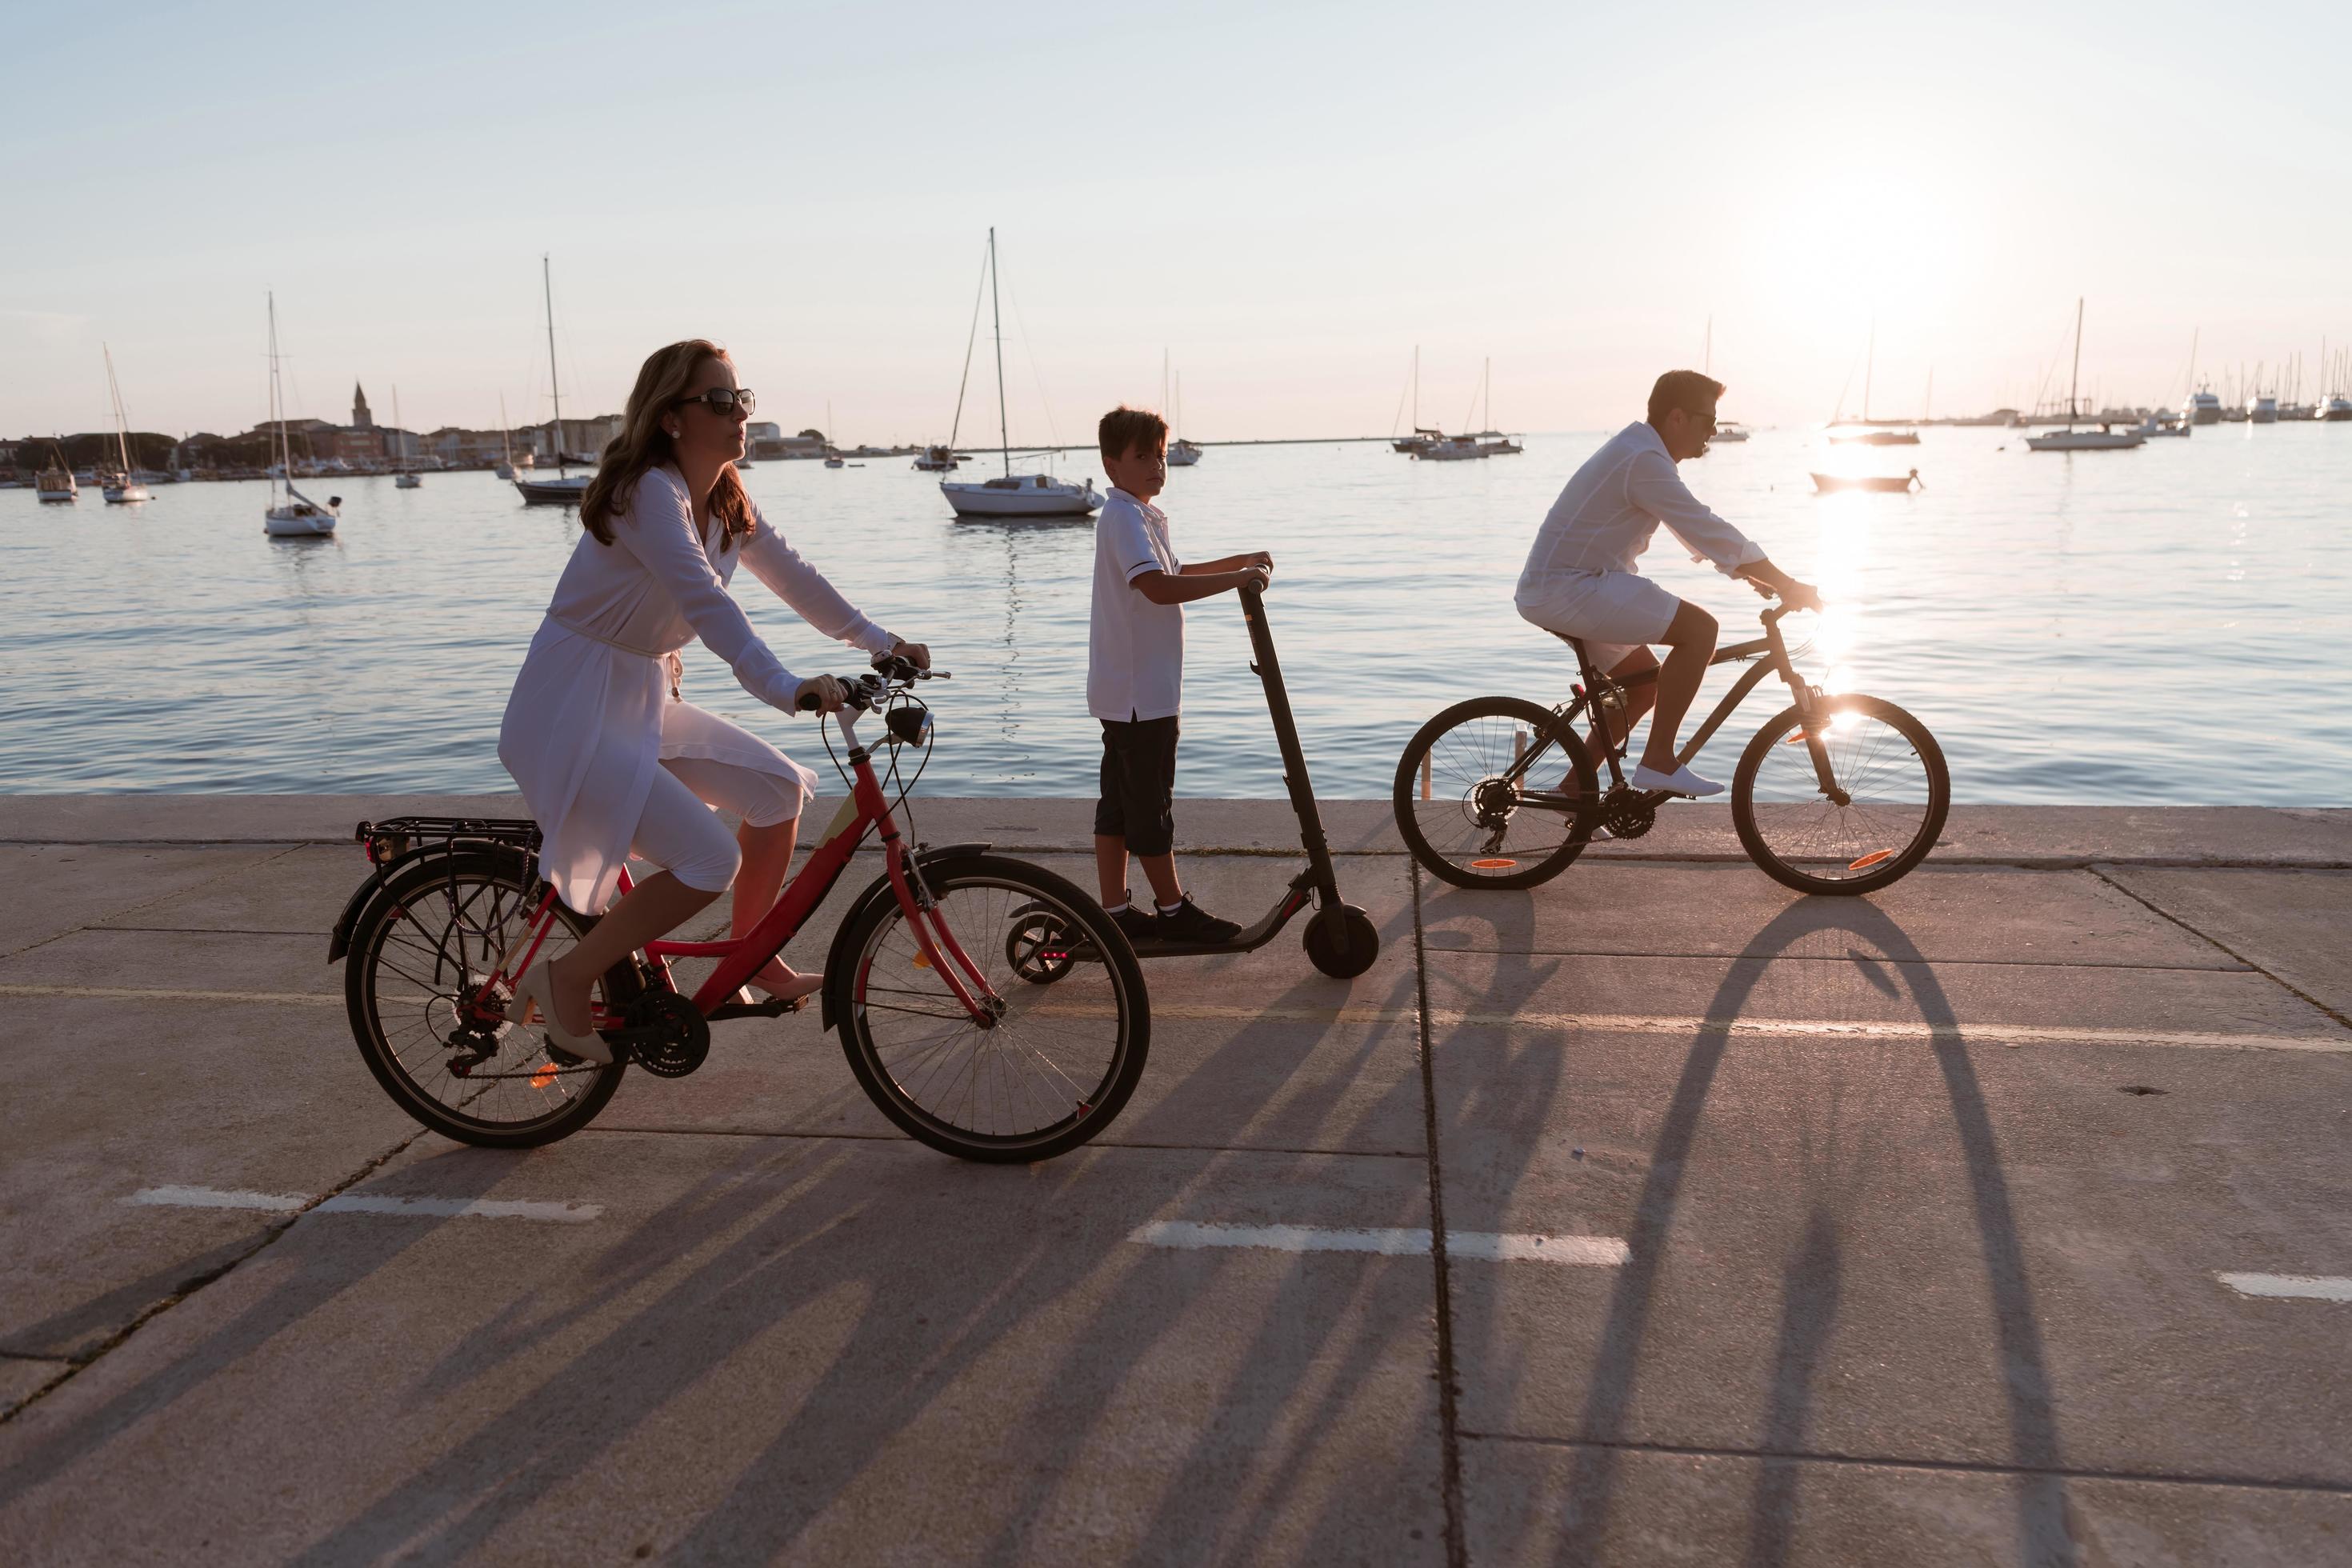
[[[1108,515],[1108,512],[1105,512]],[[1715,562],[1731,576],[1764,559],[1764,548],[1710,512],[1675,473],[1675,458],[1649,421],[1635,421],[1585,458],[1536,529],[1517,597],[1531,602],[1562,576],[1635,571],[1658,524],[1684,543],[1693,562]]]

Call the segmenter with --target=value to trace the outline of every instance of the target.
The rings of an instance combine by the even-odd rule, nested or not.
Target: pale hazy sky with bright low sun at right
[[[2185,395],[2352,346],[2352,9],[139,5],[9,28],[0,435],[567,414],[710,336],[760,418],[946,440]],[[988,324],[962,440],[993,435]],[[830,414],[828,414],[830,409]]]

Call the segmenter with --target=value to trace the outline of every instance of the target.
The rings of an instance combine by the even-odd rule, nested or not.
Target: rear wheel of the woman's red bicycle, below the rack
[[[508,1016],[539,893],[520,853],[459,851],[395,875],[353,931],[343,1001],[360,1058],[400,1110],[445,1138],[492,1150],[555,1143],[588,1126],[628,1070],[557,1063],[536,1025]],[[555,903],[539,957],[567,952],[593,924]],[[508,985],[475,1013],[492,971]],[[637,990],[635,969],[621,964],[597,999],[621,1006]]]

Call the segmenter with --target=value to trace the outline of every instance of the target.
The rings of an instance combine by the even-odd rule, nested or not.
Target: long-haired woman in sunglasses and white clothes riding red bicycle
[[[821,712],[842,705],[837,679],[800,679],[760,642],[727,592],[736,564],[828,637],[931,663],[929,649],[861,616],[743,494],[734,463],[750,411],[753,393],[736,386],[717,343],[670,343],[644,362],[499,726],[499,762],[539,820],[541,870],[557,898],[595,914],[630,851],[663,867],[515,987],[520,1004],[539,1006],[550,1044],[593,1063],[612,1060],[590,1027],[597,976],[729,884],[731,933],[746,936],[776,903],[800,809],[816,788],[816,773],[767,741],[687,703],[677,651],[701,637],[746,691],[781,712],[809,696]],[[713,806],[743,827],[729,837]],[[781,999],[823,985],[781,959],[753,983]]]

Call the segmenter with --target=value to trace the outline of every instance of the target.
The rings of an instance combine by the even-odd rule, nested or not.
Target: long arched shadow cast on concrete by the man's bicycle
[[[2051,1474],[2032,1474],[2060,1465],[2060,1441],[2034,1288],[1992,1114],[1969,1051],[1957,1039],[1959,1016],[1943,992],[1936,971],[1893,914],[1858,898],[1799,898],[1790,903],[1757,931],[1740,957],[1726,959],[1726,973],[1705,1004],[1703,1018],[1710,1027],[1689,1041],[1670,1103],[1651,1143],[1639,1194],[1632,1204],[1632,1222],[1625,1234],[1630,1258],[1613,1279],[1592,1352],[1583,1408],[1569,1434],[1573,1458],[1564,1495],[1548,1519],[1557,1530],[1557,1537],[1550,1542],[1555,1561],[1606,1561],[1609,1526],[1618,1502],[1625,1450],[1651,1436],[1635,1429],[1639,1368],[1644,1354],[1663,1354],[1651,1345],[1651,1319],[1661,1305],[1663,1260],[1668,1246],[1675,1241],[1684,1178],[1700,1138],[1708,1095],[1724,1053],[1731,1048],[1726,1027],[1745,1016],[1776,957],[1832,936],[1853,938],[1856,945],[1849,947],[1849,959],[1858,966],[1865,983],[1882,994],[1907,994],[1919,1020],[1938,1030],[1929,1051],[1936,1058],[1950,1105],[1966,1171],[1969,1208],[1987,1279],[1987,1305],[2002,1368],[1999,1392],[2009,1427],[2004,1462],[2018,1467],[2011,1481],[2018,1559],[2032,1563],[2079,1561],[2063,1481]],[[1496,1004],[1505,994],[1508,987],[1496,987]],[[1886,1046],[1875,1048],[1884,1051]],[[1482,1105],[1526,1105],[1529,1114],[1534,1114],[1534,1107],[1548,1112],[1559,1098],[1566,1060],[1559,1051],[1522,1048],[1512,1053],[1501,1063],[1496,1084],[1479,1084],[1463,1100],[1463,1112],[1454,1117],[1442,1138],[1475,1138],[1475,1117]],[[1846,1077],[1851,1079],[1851,1074]],[[1750,1495],[1743,1559],[1759,1566],[1785,1563],[1795,1549],[1797,1488],[1804,1469],[1804,1462],[1795,1455],[1804,1450],[1806,1434],[1816,1420],[1820,1399],[1818,1378],[1837,1331],[1839,1302],[1846,1286],[1849,1265],[1839,1244],[1842,1199],[1846,1192],[1860,1190],[1870,1173],[1870,1161],[1900,1154],[1898,1150],[1877,1147],[1879,1135],[1867,1117],[1856,1117],[1853,1131],[1846,1131],[1844,1095],[1844,1086],[1825,1095],[1825,1135],[1813,1138],[1811,1128],[1802,1128],[1811,1140],[1802,1154],[1813,1192],[1802,1208],[1802,1239],[1785,1258],[1780,1272],[1780,1319],[1773,1335],[1766,1408],[1759,1422],[1759,1448],[1766,1458]],[[1498,1194],[1512,1192],[1522,1180],[1534,1175],[1536,1138],[1529,1133],[1531,1128],[1548,1126],[1548,1117],[1536,1121],[1529,1114],[1510,1114],[1510,1128],[1519,1128],[1517,1135],[1477,1145],[1486,1152],[1519,1150],[1517,1166],[1505,1164],[1494,1173],[1494,1190]],[[1449,1180],[1449,1185],[1454,1182]],[[1456,1300],[1461,1300],[1461,1293],[1456,1293]],[[1494,1324],[1456,1321],[1458,1347],[1482,1349],[1501,1342]],[[1463,1366],[1463,1378],[1475,1375],[1501,1389],[1496,1408],[1508,1408],[1510,1387],[1526,1375],[1526,1352],[1515,1347],[1512,1354],[1517,1356],[1515,1361],[1498,1359]]]

